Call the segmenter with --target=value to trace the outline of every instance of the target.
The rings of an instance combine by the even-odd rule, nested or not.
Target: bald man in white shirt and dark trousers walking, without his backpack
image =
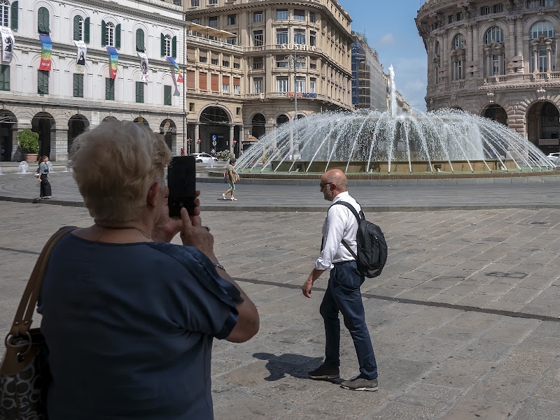
[[[358,214],[360,205],[348,194],[346,175],[338,169],[326,172],[321,177],[321,192],[325,200],[331,201],[325,223],[323,224],[323,244],[321,255],[315,268],[304,282],[302,291],[305,297],[311,298],[311,287],[325,270],[330,270],[327,291],[321,303],[321,316],[325,323],[325,361],[319,368],[309,372],[312,379],[336,379],[340,365],[340,321],[338,312],[342,312],[344,325],[350,331],[358,363],[360,375],[349,381],[342,382],[345,389],[354,391],[377,391],[377,362],[373,352],[370,333],[365,324],[365,314],[360,294],[360,286],[364,277],[358,271],[358,265],[352,254],[342,244],[358,253],[356,232],[358,221],[349,208],[335,205],[339,202],[349,203]]]

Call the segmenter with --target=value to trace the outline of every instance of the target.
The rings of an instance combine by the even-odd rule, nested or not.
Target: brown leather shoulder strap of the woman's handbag
[[[50,257],[50,252],[57,245],[57,242],[61,240],[67,233],[75,231],[78,229],[76,226],[66,226],[54,235],[52,235],[41,254],[39,255],[35,267],[31,272],[25,291],[23,292],[22,300],[20,300],[20,305],[18,306],[17,312],[15,312],[15,318],[13,320],[12,327],[10,328],[10,335],[15,335],[16,337],[26,335],[31,326],[31,321],[33,319],[33,313],[35,311],[35,306],[37,304],[37,299],[39,296],[39,291],[41,290],[41,284],[43,284],[43,276],[45,275],[45,270],[47,268],[48,259]]]

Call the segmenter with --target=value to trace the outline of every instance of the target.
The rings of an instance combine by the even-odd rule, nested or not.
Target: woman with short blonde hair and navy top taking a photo
[[[73,145],[94,223],[57,243],[41,287],[50,420],[213,419],[213,338],[258,331],[200,211],[169,217],[170,160],[163,138],[133,122],[103,123]],[[169,243],[179,232],[183,245]]]

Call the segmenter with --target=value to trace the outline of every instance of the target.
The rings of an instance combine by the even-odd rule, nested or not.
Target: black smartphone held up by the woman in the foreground
[[[167,167],[167,186],[169,197],[167,205],[169,216],[181,217],[181,208],[195,215],[196,162],[193,156],[176,156]]]

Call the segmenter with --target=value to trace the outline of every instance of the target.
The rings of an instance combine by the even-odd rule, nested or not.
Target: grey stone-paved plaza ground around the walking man
[[[55,198],[68,194],[64,198],[79,201],[69,178],[51,176]],[[35,186],[17,191],[27,180],[18,184],[16,178],[0,178],[0,196],[10,188],[13,197],[31,196]],[[389,246],[384,272],[362,289],[379,364],[379,391],[372,393],[307,379],[324,351],[318,307],[326,276],[311,299],[300,291],[318,254],[328,206],[318,188],[239,185],[239,201],[249,201],[253,210],[259,201],[287,198],[315,211],[204,212],[218,259],[261,317],[260,332],[249,342],[214,342],[216,419],[559,419],[560,210],[545,208],[543,198],[560,204],[558,185],[518,186],[510,194],[465,187],[386,188],[384,195],[377,188],[356,189],[366,205],[384,203],[384,197],[406,204],[407,194],[414,204],[435,192],[448,201],[457,196],[461,203],[489,205],[498,193],[527,205],[533,199],[540,207],[368,213]],[[203,206],[205,200],[234,204],[215,199],[222,184],[201,189]],[[90,223],[85,208],[0,201],[0,336],[48,236],[59,226]],[[344,327],[341,358],[341,376],[358,375]]]

